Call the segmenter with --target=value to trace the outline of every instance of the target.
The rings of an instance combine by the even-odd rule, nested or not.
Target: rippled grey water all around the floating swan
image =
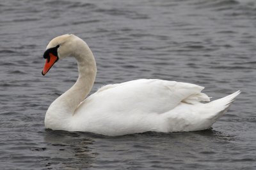
[[[0,169],[256,169],[256,2],[0,0]],[[49,41],[73,33],[98,67],[92,92],[138,78],[242,93],[212,129],[100,136],[44,128],[77,78],[74,59],[41,75]]]

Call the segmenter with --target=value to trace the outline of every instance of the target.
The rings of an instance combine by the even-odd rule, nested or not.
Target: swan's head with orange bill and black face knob
[[[81,41],[82,39],[73,34],[65,34],[52,39],[44,52],[46,61],[42,74],[45,75],[58,60],[74,56],[77,49],[77,40]]]

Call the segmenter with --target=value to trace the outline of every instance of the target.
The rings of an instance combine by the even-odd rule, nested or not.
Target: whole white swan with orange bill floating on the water
[[[65,57],[77,60],[79,77],[49,106],[45,127],[118,136],[147,131],[177,132],[209,129],[240,91],[210,103],[204,87],[166,80],[133,80],[106,85],[84,99],[92,89],[97,67],[86,43],[65,34],[52,39],[44,53],[42,74]]]

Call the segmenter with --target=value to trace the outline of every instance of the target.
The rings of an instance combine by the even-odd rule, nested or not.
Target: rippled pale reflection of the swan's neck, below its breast
[[[46,129],[44,136],[44,141],[47,143],[44,152],[45,165],[52,168],[91,167],[97,153],[90,148],[93,145],[93,139],[90,136],[93,134]]]

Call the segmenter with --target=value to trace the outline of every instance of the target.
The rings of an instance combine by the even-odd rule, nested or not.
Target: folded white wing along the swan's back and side
[[[157,79],[106,85],[79,104],[75,114],[166,113],[181,102],[195,104],[209,101],[209,97],[201,92],[203,89],[191,83]]]

